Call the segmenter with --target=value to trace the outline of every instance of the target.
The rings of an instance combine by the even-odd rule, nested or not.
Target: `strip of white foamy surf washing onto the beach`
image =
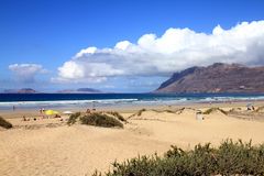
[[[53,100],[53,101],[13,101],[0,102],[0,108],[21,107],[66,107],[66,106],[122,106],[122,105],[184,105],[191,102],[217,102],[217,101],[240,101],[240,100],[264,100],[264,96],[212,96],[212,97],[161,97],[150,99],[99,99],[99,100]]]

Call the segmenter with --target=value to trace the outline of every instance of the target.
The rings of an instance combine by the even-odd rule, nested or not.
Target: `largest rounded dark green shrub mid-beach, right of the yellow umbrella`
[[[97,125],[103,128],[123,128],[123,124],[119,120],[102,113],[91,113],[80,117],[80,122],[81,124]]]

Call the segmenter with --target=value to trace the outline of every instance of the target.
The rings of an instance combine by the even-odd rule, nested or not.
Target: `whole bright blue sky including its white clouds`
[[[263,0],[0,0],[0,90],[147,92],[263,51]]]

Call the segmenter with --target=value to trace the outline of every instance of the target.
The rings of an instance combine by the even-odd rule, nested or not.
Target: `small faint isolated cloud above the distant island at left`
[[[12,64],[9,69],[22,82],[34,82],[37,74],[44,74],[46,70],[37,64]]]

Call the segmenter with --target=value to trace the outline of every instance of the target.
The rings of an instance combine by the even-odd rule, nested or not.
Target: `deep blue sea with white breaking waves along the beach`
[[[197,102],[264,100],[264,94],[0,94],[0,110],[173,106]]]

